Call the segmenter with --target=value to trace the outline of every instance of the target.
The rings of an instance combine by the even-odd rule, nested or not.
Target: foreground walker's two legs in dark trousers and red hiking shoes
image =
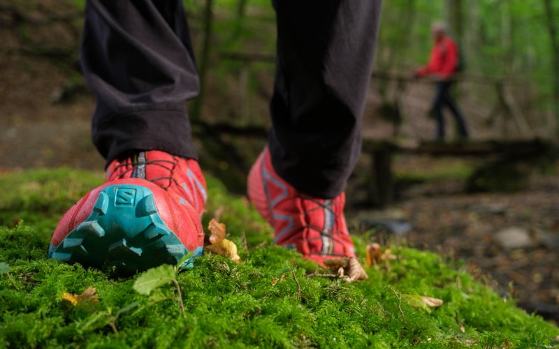
[[[275,244],[319,263],[356,258],[344,187],[361,151],[382,1],[272,2],[272,129],[248,195]],[[200,86],[182,0],[88,0],[81,47],[107,182],[64,214],[50,257],[137,272],[201,255],[208,191],[185,108]]]

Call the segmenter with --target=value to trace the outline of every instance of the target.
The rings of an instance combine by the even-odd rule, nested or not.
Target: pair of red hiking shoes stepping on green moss
[[[268,149],[254,163],[248,195],[275,230],[275,243],[303,257],[355,257],[344,219],[344,193],[324,200],[300,193],[273,169]],[[164,151],[138,151],[112,161],[106,183],[75,203],[52,235],[49,257],[119,272],[176,264],[203,251],[207,200],[198,163]],[[190,260],[187,260],[190,262]],[[185,262],[185,263],[187,263]]]

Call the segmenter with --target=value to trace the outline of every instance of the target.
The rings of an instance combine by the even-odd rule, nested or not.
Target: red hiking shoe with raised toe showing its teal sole
[[[62,216],[50,258],[129,273],[201,255],[206,189],[196,161],[140,151],[112,161],[106,180]]]

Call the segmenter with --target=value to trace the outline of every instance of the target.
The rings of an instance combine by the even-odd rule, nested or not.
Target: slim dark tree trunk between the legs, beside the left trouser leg
[[[192,108],[190,110],[190,119],[198,120],[202,114],[202,107],[204,102],[205,94],[205,77],[208,72],[208,64],[210,64],[210,47],[212,45],[212,27],[213,27],[213,6],[214,0],[206,0],[204,7],[204,17],[203,17],[203,40],[200,55],[200,64],[198,65],[198,77],[200,79],[200,94],[192,103]]]

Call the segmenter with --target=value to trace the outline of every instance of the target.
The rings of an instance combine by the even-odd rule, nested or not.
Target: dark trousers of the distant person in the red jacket
[[[431,104],[431,112],[433,117],[437,121],[437,135],[436,138],[439,140],[444,139],[444,115],[442,114],[442,108],[448,107],[456,120],[456,126],[458,128],[458,134],[460,137],[467,138],[467,128],[464,117],[458,106],[454,102],[450,89],[452,86],[452,81],[442,81],[437,82],[435,86],[435,97],[433,98],[433,103]]]

